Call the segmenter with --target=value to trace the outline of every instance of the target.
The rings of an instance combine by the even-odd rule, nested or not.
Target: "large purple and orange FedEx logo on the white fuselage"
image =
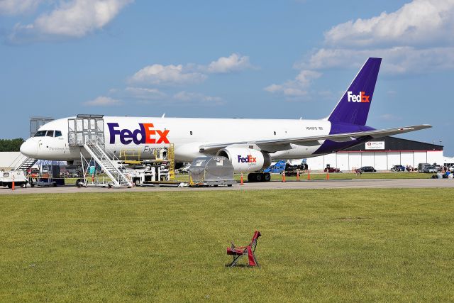
[[[160,131],[155,129],[153,123],[138,123],[139,128],[134,131],[129,129],[118,129],[118,123],[107,123],[110,133],[109,143],[115,144],[116,137],[120,138],[121,144],[128,145],[131,142],[134,144],[160,144],[160,143],[170,143],[167,139],[169,130],[165,129]]]

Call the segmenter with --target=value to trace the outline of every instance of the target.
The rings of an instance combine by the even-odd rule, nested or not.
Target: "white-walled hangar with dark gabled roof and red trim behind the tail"
[[[443,145],[385,137],[337,153],[307,158],[306,162],[310,170],[323,170],[329,164],[346,172],[362,166],[389,170],[394,165],[410,165],[416,168],[419,163],[443,165],[445,160]]]

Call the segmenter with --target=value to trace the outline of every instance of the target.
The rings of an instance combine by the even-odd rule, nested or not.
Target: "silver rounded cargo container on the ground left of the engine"
[[[226,157],[199,157],[189,167],[189,184],[192,186],[232,186],[233,165]]]

